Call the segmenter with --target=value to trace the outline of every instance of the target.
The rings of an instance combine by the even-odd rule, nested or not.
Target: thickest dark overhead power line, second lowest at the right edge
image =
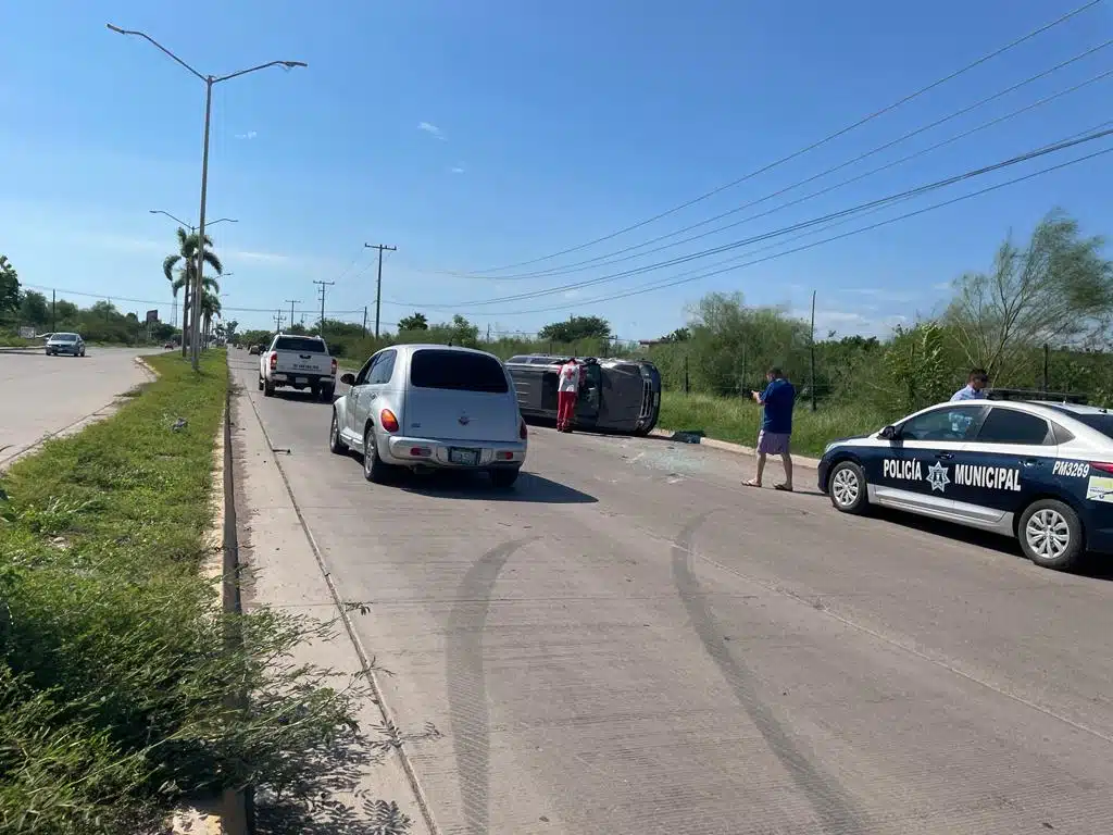
[[[895,203],[895,202],[899,202],[899,200],[906,199],[908,197],[915,197],[915,196],[918,196],[918,195],[922,195],[922,194],[926,194],[928,191],[933,191],[933,190],[936,190],[936,189],[939,189],[939,188],[945,188],[946,186],[954,185],[955,183],[961,183],[963,180],[972,179],[974,177],[981,177],[981,176],[984,176],[984,175],[989,174],[992,171],[996,171],[996,170],[999,170],[1002,168],[1007,168],[1009,166],[1018,165],[1021,163],[1025,163],[1025,161],[1028,161],[1031,159],[1036,159],[1036,158],[1045,156],[1047,154],[1054,154],[1054,153],[1060,151],[1060,150],[1065,150],[1065,149],[1072,148],[1072,147],[1074,147],[1076,145],[1082,145],[1084,143],[1095,141],[1097,139],[1102,139],[1102,138],[1109,136],[1110,134],[1113,134],[1113,129],[1102,130],[1102,131],[1092,132],[1092,134],[1086,134],[1085,136],[1082,136],[1081,138],[1072,138],[1072,139],[1062,140],[1062,141],[1058,141],[1058,143],[1052,144],[1052,145],[1046,145],[1046,146],[1043,146],[1041,148],[1036,148],[1034,150],[1027,151],[1027,153],[1022,154],[1020,156],[1002,160],[999,163],[994,163],[993,165],[983,166],[981,168],[975,168],[973,170],[964,171],[962,174],[957,174],[957,175],[954,175],[952,177],[947,177],[945,179],[936,180],[934,183],[928,183],[928,184],[925,184],[923,186],[917,186],[916,188],[910,188],[910,189],[907,189],[907,190],[904,190],[904,191],[899,191],[897,194],[889,195],[887,197],[883,197],[883,198],[875,199],[875,200],[869,200],[867,203],[861,203],[861,204],[858,204],[857,206],[853,206],[850,208],[843,209],[840,212],[833,212],[833,213],[829,213],[827,215],[823,215],[820,217],[811,218],[810,220],[804,220],[804,222],[800,222],[800,223],[797,223],[797,224],[792,224],[790,226],[785,226],[785,227],[781,227],[779,229],[774,229],[772,232],[768,232],[768,233],[765,233],[765,234],[761,234],[761,235],[755,235],[752,237],[742,238],[740,240],[735,240],[735,242],[731,242],[729,244],[722,244],[721,246],[710,247],[708,249],[701,249],[701,250],[698,250],[696,253],[689,253],[687,255],[677,256],[676,258],[670,258],[668,261],[658,262],[656,264],[648,264],[648,265],[644,265],[644,266],[641,266],[641,267],[636,267],[636,268],[632,268],[632,269],[627,269],[627,271],[623,271],[621,273],[613,273],[613,274],[610,274],[610,275],[603,275],[603,276],[600,276],[600,277],[597,277],[597,278],[590,278],[590,279],[585,279],[585,281],[582,281],[582,282],[574,282],[574,283],[571,283],[571,284],[564,284],[564,285],[560,285],[560,286],[555,286],[555,287],[549,287],[546,289],[532,291],[532,292],[528,292],[528,293],[518,293],[518,294],[510,295],[510,296],[501,296],[501,297],[487,298],[487,299],[481,299],[481,301],[474,301],[474,302],[456,302],[456,303],[452,303],[452,304],[425,305],[425,306],[426,307],[446,307],[446,308],[451,307],[451,308],[456,308],[456,310],[459,310],[460,307],[483,307],[483,306],[486,306],[486,305],[500,304],[500,303],[503,303],[503,302],[519,302],[519,301],[525,301],[525,299],[530,299],[530,298],[540,298],[542,296],[554,295],[556,293],[563,293],[563,292],[568,292],[570,289],[581,289],[583,287],[594,286],[597,284],[605,284],[608,282],[617,281],[619,278],[626,278],[626,277],[632,276],[632,275],[641,275],[642,273],[649,273],[649,272],[652,272],[654,269],[661,269],[661,268],[664,268],[664,267],[676,266],[677,264],[684,264],[687,262],[696,261],[698,258],[705,258],[705,257],[707,257],[709,255],[717,255],[717,254],[722,253],[722,252],[729,252],[731,249],[737,249],[737,248],[742,247],[742,246],[748,246],[749,244],[759,243],[759,242],[767,240],[767,239],[770,239],[770,238],[775,238],[775,237],[780,237],[780,236],[784,236],[784,235],[788,235],[790,233],[799,232],[800,229],[805,229],[805,228],[808,228],[810,226],[816,226],[816,225],[826,223],[827,220],[831,220],[831,219],[835,219],[835,218],[838,218],[838,217],[845,217],[845,216],[848,216],[848,215],[856,215],[858,213],[861,213],[861,212],[864,212],[866,209],[869,209],[869,208],[873,208],[875,206],[883,206],[883,205],[886,205],[886,204],[890,204],[890,203]],[[395,302],[395,303],[392,303],[392,304],[402,304],[403,306],[411,306],[412,305],[412,303],[400,303],[400,302]]]

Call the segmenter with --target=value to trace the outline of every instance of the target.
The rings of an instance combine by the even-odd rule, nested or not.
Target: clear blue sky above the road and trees
[[[263,326],[284,299],[359,321],[384,268],[383,321],[459,311],[494,331],[535,331],[572,313],[626,338],[683,324],[711,291],[805,311],[820,333],[881,333],[940,305],[946,284],[988,265],[1001,238],[1055,206],[1086,232],[1113,229],[1113,155],[919,217],[671,288],[613,301],[731,256],[741,263],[848,232],[1113,147],[1113,137],[1016,166],[828,234],[801,233],[669,268],[522,301],[509,295],[613,275],[838,212],[1078,134],[1105,119],[1111,79],[829,194],[700,240],[574,273],[553,271],[641,244],[766,197],[1113,38],[1109,0],[839,139],[627,235],[487,276],[652,217],[878,110],[1083,0],[138,0],[7,3],[0,51],[0,252],[39,287],[170,312],[161,276],[174,224],[196,217],[204,85],[139,29],[203,72],[275,59],[215,88],[209,219],[227,317]],[[92,7],[99,7],[93,9]],[[327,10],[327,11],[326,11]],[[198,32],[195,21],[203,21]],[[1113,48],[868,160],[705,225],[698,234],[927,148],[1113,68]],[[686,235],[687,236],[687,235]],[[682,237],[686,237],[682,236]],[[663,240],[671,243],[676,238]],[[776,247],[772,244],[777,244]],[[658,244],[660,246],[660,244]],[[641,252],[641,250],[634,250]],[[738,262],[736,262],[738,263]],[[590,265],[589,265],[590,266]],[[492,276],[504,279],[495,281]],[[509,277],[509,278],[508,278]],[[151,304],[147,304],[147,301]],[[154,304],[157,303],[157,304]],[[558,308],[558,310],[552,310]],[[264,312],[267,311],[267,312]],[[372,312],[373,315],[373,312]]]

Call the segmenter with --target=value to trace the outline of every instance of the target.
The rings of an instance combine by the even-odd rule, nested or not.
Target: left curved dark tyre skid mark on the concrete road
[[[483,672],[483,628],[491,592],[506,560],[536,537],[503,542],[467,569],[449,613],[445,651],[449,725],[466,832],[486,835],[491,816],[491,731],[486,677]]]

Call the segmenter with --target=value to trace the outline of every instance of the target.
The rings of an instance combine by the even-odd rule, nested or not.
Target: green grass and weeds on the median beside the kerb
[[[355,739],[354,694],[279,660],[328,627],[226,617],[198,571],[224,352],[200,374],[150,362],[158,381],[115,416],[0,481],[3,833],[146,832],[183,796],[227,786],[321,794]],[[223,651],[232,627],[246,652]]]

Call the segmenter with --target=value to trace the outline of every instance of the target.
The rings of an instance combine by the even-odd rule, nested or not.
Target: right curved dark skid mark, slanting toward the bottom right
[[[722,630],[717,627],[699,579],[692,571],[692,542],[696,532],[715,512],[710,510],[690,519],[672,544],[672,579],[692,627],[703,644],[703,649],[730,685],[738,704],[746,710],[774,756],[808,798],[823,822],[824,831],[833,835],[865,832],[866,818],[857,811],[853,798],[802,750],[777,718],[772,706],[758,695],[754,674],[745,662],[731,655],[729,645],[722,640]]]

